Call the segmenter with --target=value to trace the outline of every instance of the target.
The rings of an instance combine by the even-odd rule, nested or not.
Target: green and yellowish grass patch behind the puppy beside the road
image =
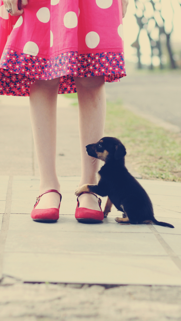
[[[147,179],[181,181],[181,136],[155,126],[123,108],[107,103],[105,135],[125,145],[127,160]]]

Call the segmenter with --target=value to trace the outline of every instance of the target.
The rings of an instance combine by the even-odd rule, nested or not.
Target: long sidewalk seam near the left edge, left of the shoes
[[[6,194],[5,213],[3,214],[3,221],[2,221],[2,227],[0,232],[0,277],[2,276],[2,271],[3,271],[3,256],[4,256],[7,232],[9,228],[9,218],[11,213],[12,184],[13,184],[13,175],[9,176],[7,194]]]

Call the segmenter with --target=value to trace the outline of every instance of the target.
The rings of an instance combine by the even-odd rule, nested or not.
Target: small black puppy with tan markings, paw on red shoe
[[[119,139],[103,137],[98,143],[87,145],[86,151],[89,156],[103,160],[105,164],[99,171],[98,185],[84,184],[75,190],[75,195],[93,192],[100,196],[108,196],[104,217],[107,217],[114,204],[124,213],[123,218],[115,218],[119,223],[155,223],[174,228],[171,224],[155,219],[148,194],[125,167],[126,149]]]

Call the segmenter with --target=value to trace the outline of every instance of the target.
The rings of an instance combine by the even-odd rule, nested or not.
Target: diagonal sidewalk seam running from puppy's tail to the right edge
[[[157,238],[161,246],[164,248],[164,250],[167,252],[168,256],[171,258],[171,260],[175,263],[175,265],[181,271],[181,260],[179,256],[175,254],[172,248],[167,244],[167,242],[162,238],[162,236],[158,233],[158,231],[152,224],[148,225],[148,227],[152,231],[152,233],[155,235],[155,237]]]

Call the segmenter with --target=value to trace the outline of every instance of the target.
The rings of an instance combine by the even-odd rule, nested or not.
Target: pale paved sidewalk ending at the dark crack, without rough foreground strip
[[[74,190],[81,162],[78,110],[70,103],[59,95],[61,217],[57,223],[45,224],[29,215],[38,196],[39,172],[28,98],[1,96],[1,217],[5,213],[1,273],[28,282],[181,285],[181,183],[139,180],[151,197],[157,219],[172,223],[175,229],[119,225],[114,218],[121,213],[116,209],[100,224],[75,220]]]

